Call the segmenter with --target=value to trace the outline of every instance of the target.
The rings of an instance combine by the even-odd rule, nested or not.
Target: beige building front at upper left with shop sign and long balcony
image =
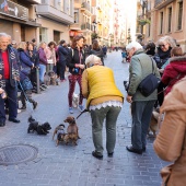
[[[0,32],[18,43],[69,42],[73,23],[73,0],[0,0]]]

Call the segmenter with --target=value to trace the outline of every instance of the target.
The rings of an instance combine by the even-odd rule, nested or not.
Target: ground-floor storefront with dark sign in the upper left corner
[[[0,0],[0,32],[19,42],[36,37],[39,24],[28,18],[28,9],[8,0]]]

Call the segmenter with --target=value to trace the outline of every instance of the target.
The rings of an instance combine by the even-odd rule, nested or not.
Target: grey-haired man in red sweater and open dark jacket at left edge
[[[9,120],[20,123],[16,103],[16,79],[19,77],[18,54],[9,45],[10,36],[0,33],[0,86],[5,90],[8,95]],[[4,100],[0,96],[0,127],[5,126]]]

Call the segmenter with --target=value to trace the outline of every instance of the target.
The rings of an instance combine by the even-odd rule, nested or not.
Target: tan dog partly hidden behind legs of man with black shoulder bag
[[[148,131],[149,137],[150,137],[150,131],[153,132],[154,138],[156,137],[156,132],[159,131],[159,117],[160,117],[160,113],[158,111],[153,111],[151,121],[149,124],[149,131]]]

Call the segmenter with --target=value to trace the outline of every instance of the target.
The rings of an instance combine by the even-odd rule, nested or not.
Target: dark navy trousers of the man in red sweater
[[[9,108],[9,118],[13,119],[18,116],[18,89],[12,88],[9,80],[5,80],[5,92],[8,95],[8,108]],[[4,100],[0,97],[0,121],[5,121],[5,109],[4,109]]]

